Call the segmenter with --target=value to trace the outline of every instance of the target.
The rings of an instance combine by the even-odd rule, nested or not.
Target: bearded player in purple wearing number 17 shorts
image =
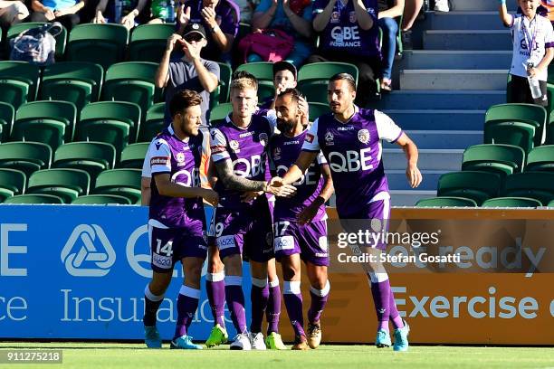
[[[284,175],[301,153],[308,129],[302,124],[304,113],[298,90],[288,89],[275,100],[280,135],[270,140],[272,173]],[[317,348],[321,341],[320,316],[329,298],[327,279],[327,214],[325,203],[333,193],[333,182],[325,158],[318,156],[298,182],[291,198],[278,197],[273,213],[273,249],[281,261],[284,301],[295,333],[293,350]],[[310,279],[311,306],[308,331],[304,332],[301,295],[301,260]]]

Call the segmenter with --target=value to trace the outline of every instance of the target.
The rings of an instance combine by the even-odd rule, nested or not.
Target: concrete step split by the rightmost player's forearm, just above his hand
[[[463,149],[420,149],[417,166],[420,170],[454,172],[462,167]],[[383,150],[385,170],[406,170],[406,154],[400,148]]]

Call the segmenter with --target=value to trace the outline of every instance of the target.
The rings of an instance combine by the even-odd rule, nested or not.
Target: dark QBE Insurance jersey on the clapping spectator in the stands
[[[359,26],[354,1],[356,0],[349,0],[347,5],[344,5],[341,0],[337,0],[329,24],[320,33],[320,49],[325,52],[343,52],[349,55],[380,58],[377,1],[363,0],[368,14],[374,20],[374,25],[369,30],[363,30]],[[321,14],[328,4],[328,0],[315,0],[314,17]]]

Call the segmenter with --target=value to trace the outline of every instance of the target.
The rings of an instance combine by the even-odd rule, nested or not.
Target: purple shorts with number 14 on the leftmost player
[[[152,270],[158,273],[173,271],[177,261],[183,258],[205,259],[207,241],[202,229],[157,228],[148,225]]]

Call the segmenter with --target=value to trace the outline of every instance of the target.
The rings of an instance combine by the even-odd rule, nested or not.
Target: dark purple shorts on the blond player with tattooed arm
[[[237,254],[258,262],[274,258],[272,217],[264,201],[241,212],[217,208],[215,236],[221,259]]]

